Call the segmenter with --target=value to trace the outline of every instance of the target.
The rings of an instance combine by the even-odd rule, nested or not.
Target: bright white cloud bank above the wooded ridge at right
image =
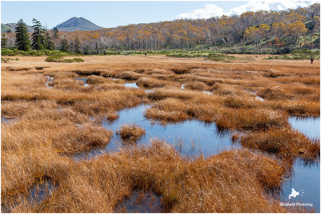
[[[178,19],[208,19],[215,16],[240,15],[247,11],[259,11],[259,10],[286,10],[288,8],[307,7],[314,3],[320,3],[320,1],[249,1],[247,4],[242,4],[238,7],[233,7],[229,11],[225,12],[221,7],[215,4],[206,4],[204,9],[195,9],[192,12],[181,13],[176,18]]]

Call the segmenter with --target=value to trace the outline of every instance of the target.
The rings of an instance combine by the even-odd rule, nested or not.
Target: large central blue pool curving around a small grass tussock
[[[186,155],[203,155],[215,154],[223,148],[231,148],[232,142],[230,132],[219,132],[214,123],[205,124],[197,120],[187,120],[178,124],[160,125],[157,122],[151,123],[150,120],[144,119],[143,112],[149,106],[138,106],[131,109],[121,110],[119,118],[113,123],[104,123],[106,129],[111,129],[114,132],[114,137],[108,144],[106,149],[113,150],[118,148],[121,140],[116,136],[116,130],[122,124],[132,123],[138,124],[145,128],[146,134],[138,141],[139,144],[146,145],[151,138],[160,138],[168,141]],[[182,147],[178,146],[178,142],[182,141]],[[233,147],[238,147],[234,145]],[[95,155],[100,153],[96,151],[86,152],[83,155]],[[79,154],[78,154],[79,155]]]

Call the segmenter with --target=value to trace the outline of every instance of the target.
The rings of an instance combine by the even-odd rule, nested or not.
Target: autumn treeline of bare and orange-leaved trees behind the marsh
[[[37,20],[33,22],[35,32],[31,35],[32,49],[45,48],[79,54],[175,48],[285,54],[300,48],[320,48],[320,4],[284,11],[130,24],[93,31],[59,32],[57,29],[45,29]],[[36,30],[37,27],[39,30]],[[38,34],[35,35],[36,32]],[[2,48],[20,49],[18,33],[17,30],[4,33]]]

